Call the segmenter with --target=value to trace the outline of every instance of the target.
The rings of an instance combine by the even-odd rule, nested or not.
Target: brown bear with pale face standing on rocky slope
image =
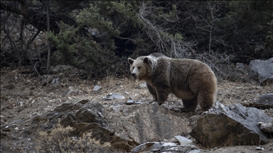
[[[208,111],[215,102],[217,80],[207,64],[198,60],[173,59],[161,53],[128,58],[130,71],[135,79],[146,81],[153,100],[160,105],[168,94],[183,101],[181,111],[196,111],[199,104]]]

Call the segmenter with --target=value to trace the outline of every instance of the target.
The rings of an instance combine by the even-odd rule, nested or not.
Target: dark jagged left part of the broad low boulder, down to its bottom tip
[[[58,123],[64,127],[74,128],[71,136],[82,137],[90,132],[91,137],[101,142],[111,142],[112,146],[122,150],[131,150],[139,145],[129,138],[119,137],[114,129],[109,129],[105,118],[104,107],[100,103],[88,100],[77,101],[76,103],[63,103],[43,115],[48,120],[39,130],[50,132]]]

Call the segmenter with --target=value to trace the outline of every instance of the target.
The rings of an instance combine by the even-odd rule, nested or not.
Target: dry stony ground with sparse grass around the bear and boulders
[[[30,67],[1,67],[1,152],[36,152],[37,131],[26,132],[26,129],[32,126],[33,117],[53,111],[62,103],[88,99],[104,106],[113,106],[124,103],[129,97],[143,103],[151,101],[148,90],[140,86],[143,82],[126,77],[81,79],[82,77],[77,75],[77,70],[66,69],[58,74],[59,79],[55,79],[55,83],[47,84],[44,77],[31,77],[31,74],[24,73],[29,69]],[[242,80],[246,79],[237,81],[218,79],[218,101],[226,105],[242,103],[247,106],[262,94],[273,92],[272,85],[259,86],[251,79],[245,82]],[[96,85],[102,86],[102,89],[93,91]],[[105,101],[105,97],[110,93],[122,94],[125,98]],[[171,95],[164,105],[180,106],[180,103],[180,100]],[[273,117],[272,109],[264,112]],[[177,115],[185,115],[188,118],[187,121],[190,122],[188,129],[196,123],[197,118],[191,118],[195,113]],[[269,139],[269,144],[261,146],[205,148],[200,144],[196,145],[211,152],[273,152],[272,138]],[[262,147],[264,150],[257,150],[256,147]]]

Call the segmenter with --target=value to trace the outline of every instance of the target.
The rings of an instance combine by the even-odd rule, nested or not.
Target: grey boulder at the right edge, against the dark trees
[[[252,60],[249,65],[250,77],[257,79],[259,84],[273,80],[273,57],[269,60]]]

